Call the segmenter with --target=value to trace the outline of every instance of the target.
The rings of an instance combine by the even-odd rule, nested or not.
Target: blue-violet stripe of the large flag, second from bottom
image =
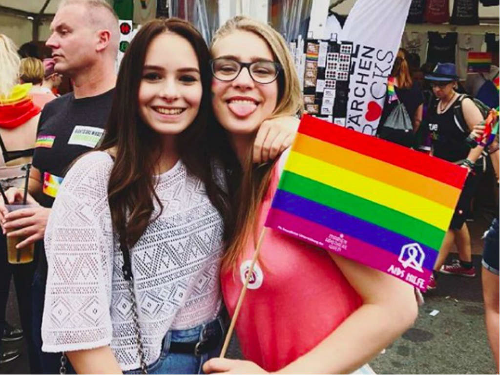
[[[301,196],[278,189],[274,195],[272,207],[335,229],[350,237],[361,239],[363,242],[371,243],[373,246],[388,250],[397,256],[403,245],[418,242],[426,254],[423,266],[427,269],[432,269],[434,265],[434,258],[437,255],[437,251],[420,243],[418,240],[405,237]],[[303,234],[306,234],[305,228],[303,228],[303,231]],[[431,254],[434,255],[431,256]]]

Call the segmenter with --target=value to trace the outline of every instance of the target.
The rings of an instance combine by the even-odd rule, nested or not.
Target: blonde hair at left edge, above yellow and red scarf
[[[17,83],[19,62],[14,42],[8,36],[0,34],[0,97],[7,97]]]

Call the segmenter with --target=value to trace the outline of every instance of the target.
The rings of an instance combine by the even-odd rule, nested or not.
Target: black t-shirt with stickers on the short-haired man
[[[97,96],[75,99],[72,92],[49,101],[38,122],[33,166],[42,176],[40,204],[51,207],[71,163],[94,148],[107,122],[114,89]]]

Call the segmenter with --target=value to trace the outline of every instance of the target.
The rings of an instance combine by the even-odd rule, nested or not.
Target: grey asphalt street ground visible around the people
[[[415,325],[370,363],[377,373],[494,373],[484,328],[479,255],[482,252],[479,238],[490,221],[491,216],[482,212],[469,223],[473,260],[479,270],[476,277],[441,275],[438,288],[426,293]],[[11,292],[7,319],[19,326],[14,301]],[[432,310],[439,313],[431,316]],[[18,359],[0,367],[0,373],[27,373],[24,343],[19,341],[5,346],[21,347],[23,352]],[[237,342],[233,340],[228,356],[240,355]]]

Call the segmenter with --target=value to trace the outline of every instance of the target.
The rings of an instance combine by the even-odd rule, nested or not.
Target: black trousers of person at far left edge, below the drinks
[[[10,278],[13,276],[21,327],[24,331],[24,339],[28,348],[31,373],[40,372],[33,341],[31,340],[31,281],[35,266],[36,259],[26,264],[8,263],[7,243],[5,236],[0,232],[0,322],[2,328],[0,337],[3,332],[3,322],[5,321],[5,308],[7,306]]]

